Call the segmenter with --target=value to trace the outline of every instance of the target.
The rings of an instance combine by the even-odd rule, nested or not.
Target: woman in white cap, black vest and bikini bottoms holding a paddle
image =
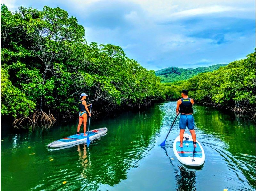
[[[82,93],[80,96],[80,101],[79,103],[79,124],[77,126],[77,135],[79,134],[80,131],[80,126],[82,125],[82,122],[84,122],[84,136],[86,136],[85,132],[86,132],[86,122],[87,122],[87,114],[86,111],[88,112],[89,116],[91,117],[91,113],[88,110],[88,106],[91,106],[92,104],[86,105],[86,97],[88,95],[85,93]]]

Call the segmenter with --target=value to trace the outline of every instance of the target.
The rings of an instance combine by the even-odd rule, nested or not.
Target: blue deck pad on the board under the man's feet
[[[188,144],[188,145],[186,145]],[[179,154],[180,157],[193,157],[193,150],[194,150],[194,145],[193,141],[183,141],[183,147],[180,147],[180,141],[176,142],[176,150]],[[195,148],[195,156],[198,158],[202,158],[202,150],[201,148],[197,145]]]

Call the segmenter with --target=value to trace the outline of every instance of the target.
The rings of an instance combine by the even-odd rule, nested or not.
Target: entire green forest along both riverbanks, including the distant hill
[[[183,69],[184,75],[171,67],[176,82],[163,84],[120,46],[89,44],[85,34],[63,9],[21,6],[11,13],[1,5],[1,114],[73,115],[82,92],[97,114],[151,100],[177,100],[182,89],[196,103],[255,114],[255,51],[224,67]],[[202,73],[208,70],[215,71]]]

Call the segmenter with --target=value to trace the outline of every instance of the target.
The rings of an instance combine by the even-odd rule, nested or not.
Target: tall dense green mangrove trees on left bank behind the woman
[[[88,45],[84,27],[60,8],[21,6],[12,14],[1,6],[1,70],[1,113],[14,117],[36,109],[76,112],[82,92],[101,109],[165,98],[154,71],[119,46]],[[13,95],[20,101],[10,102]]]

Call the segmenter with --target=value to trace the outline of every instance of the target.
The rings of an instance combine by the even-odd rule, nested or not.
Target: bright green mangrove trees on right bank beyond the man
[[[167,93],[172,99],[178,99],[179,92],[188,89],[189,96],[199,102],[255,109],[255,52],[213,72],[164,85],[176,92]]]

